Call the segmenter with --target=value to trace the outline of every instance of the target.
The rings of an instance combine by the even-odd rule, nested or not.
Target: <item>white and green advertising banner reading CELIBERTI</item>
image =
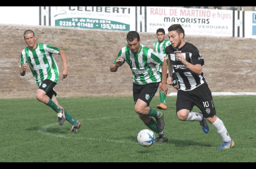
[[[135,29],[134,6],[51,7],[53,26],[130,31]]]

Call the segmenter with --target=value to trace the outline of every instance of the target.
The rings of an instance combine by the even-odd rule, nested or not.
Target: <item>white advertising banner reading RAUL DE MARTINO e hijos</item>
[[[180,24],[189,35],[230,36],[233,31],[232,10],[147,7],[147,32]]]

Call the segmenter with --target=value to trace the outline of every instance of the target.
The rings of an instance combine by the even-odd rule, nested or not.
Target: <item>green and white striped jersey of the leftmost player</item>
[[[45,79],[58,82],[59,69],[52,54],[59,54],[60,49],[48,44],[37,43],[36,48],[30,50],[28,47],[21,51],[20,67],[27,63],[38,87]]]

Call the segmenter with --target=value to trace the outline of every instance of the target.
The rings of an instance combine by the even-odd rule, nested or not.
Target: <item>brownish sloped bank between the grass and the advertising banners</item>
[[[35,97],[37,85],[30,70],[19,73],[20,53],[26,47],[23,33],[32,29],[37,42],[65,50],[68,78],[59,79],[58,97],[131,96],[132,73],[124,64],[115,73],[109,70],[127,32],[47,26],[0,25],[0,98]],[[141,43],[153,48],[155,33],[140,33]],[[203,73],[212,92],[256,92],[256,39],[186,35],[203,55]],[[59,55],[54,55],[62,73]],[[169,87],[169,92],[176,92]],[[169,93],[168,92],[168,93]],[[158,95],[158,92],[156,92]]]

